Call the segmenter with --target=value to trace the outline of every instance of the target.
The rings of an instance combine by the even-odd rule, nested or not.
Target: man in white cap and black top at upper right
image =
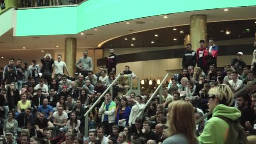
[[[239,75],[242,75],[244,67],[246,67],[246,64],[243,61],[243,53],[242,52],[238,52],[237,53],[237,58],[233,59],[232,62],[231,62],[231,68],[233,70],[237,71],[237,73]]]

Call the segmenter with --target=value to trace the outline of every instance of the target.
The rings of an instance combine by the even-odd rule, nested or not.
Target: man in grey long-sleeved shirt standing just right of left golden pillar
[[[81,66],[79,65],[81,63]],[[88,72],[93,70],[93,61],[90,57],[88,57],[88,51],[83,51],[83,57],[81,57],[77,63],[77,68],[81,70],[81,74],[86,77]]]

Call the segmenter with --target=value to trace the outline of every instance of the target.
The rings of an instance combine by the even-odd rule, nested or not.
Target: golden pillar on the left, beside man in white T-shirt
[[[74,76],[76,72],[77,39],[66,38],[65,40],[65,63],[69,70],[69,75]]]

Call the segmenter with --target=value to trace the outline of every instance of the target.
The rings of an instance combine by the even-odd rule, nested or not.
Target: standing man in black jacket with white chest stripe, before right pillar
[[[197,61],[197,53],[192,50],[192,46],[190,43],[187,44],[187,51],[185,52],[182,59],[182,67],[193,66],[195,67]]]

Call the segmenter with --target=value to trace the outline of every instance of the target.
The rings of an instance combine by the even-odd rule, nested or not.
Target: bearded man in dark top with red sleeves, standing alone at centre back
[[[107,64],[106,64],[107,74],[109,74],[109,72],[111,71],[115,72],[116,74],[117,55],[115,55],[114,48],[110,48],[109,53],[110,55],[107,57]]]

